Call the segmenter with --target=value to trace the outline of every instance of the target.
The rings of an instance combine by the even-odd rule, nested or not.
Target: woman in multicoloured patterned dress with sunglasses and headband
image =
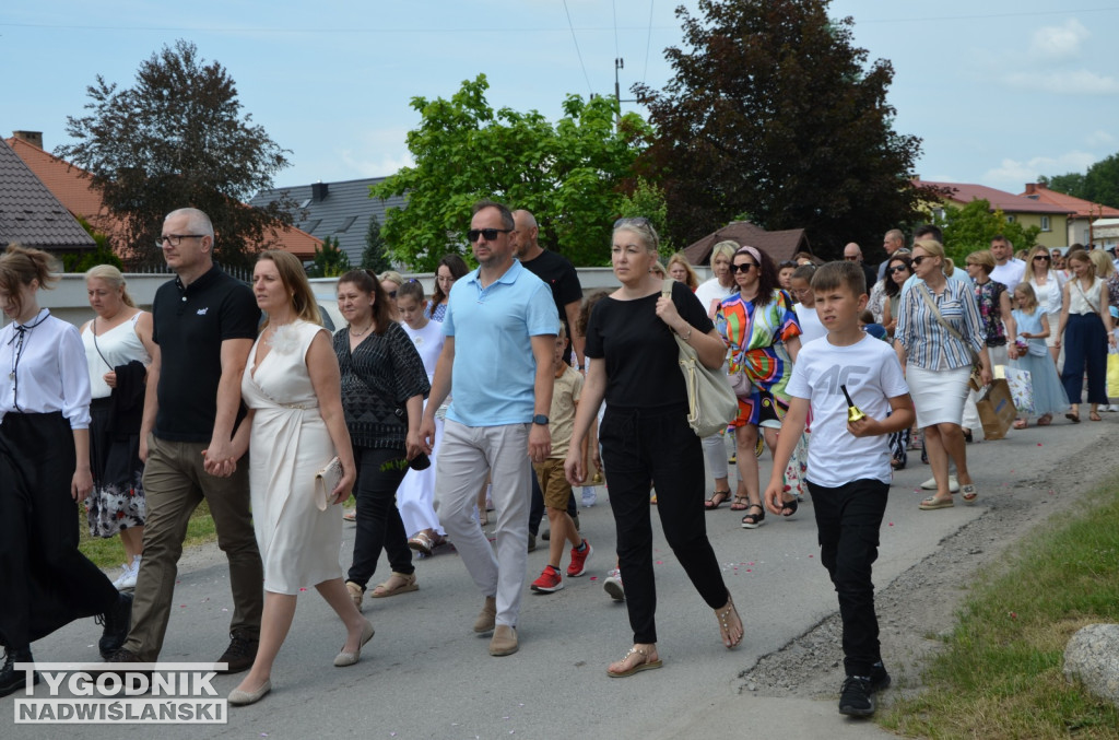
[[[778,288],[777,269],[768,254],[752,246],[739,247],[731,270],[737,290],[720,305],[715,325],[731,349],[731,377],[742,373],[750,384],[749,390],[740,390],[739,415],[731,422],[739,465],[739,491],[731,508],[746,512],[742,526],[754,530],[765,519],[758,479],[758,430],[763,430],[772,453],[789,409],[784,388],[800,352],[800,325],[792,300]],[[786,516],[797,510],[788,484]]]

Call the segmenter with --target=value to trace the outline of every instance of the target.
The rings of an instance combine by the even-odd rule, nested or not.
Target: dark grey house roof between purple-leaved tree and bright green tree
[[[392,197],[387,200],[369,197],[369,186],[377,185],[384,179],[369,177],[360,180],[273,188],[257,193],[248,203],[253,206],[263,206],[286,191],[305,212],[307,217],[295,225],[319,240],[328,236],[337,237],[338,246],[349,256],[350,264],[358,264],[361,262],[361,252],[365,251],[369,217],[376,216],[384,226],[385,212],[388,208],[403,208],[405,205],[403,197]],[[323,189],[325,196],[321,195]]]

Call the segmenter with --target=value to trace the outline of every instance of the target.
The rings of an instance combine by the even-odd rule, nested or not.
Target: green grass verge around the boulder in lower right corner
[[[1005,568],[981,575],[925,690],[880,714],[928,738],[1116,738],[1119,710],[1068,683],[1064,647],[1078,629],[1119,621],[1119,477],[1083,498],[1083,514],[1043,526]]]

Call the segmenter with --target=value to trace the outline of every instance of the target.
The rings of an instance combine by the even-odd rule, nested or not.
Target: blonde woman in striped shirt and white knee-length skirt
[[[968,471],[961,422],[975,358],[979,358],[984,384],[990,383],[991,365],[975,294],[970,284],[946,275],[951,261],[944,247],[931,238],[919,240],[911,262],[922,282],[902,294],[894,347],[905,369],[918,427],[924,430],[937,493],[922,500],[920,508],[931,510],[953,506],[949,458],[956,462],[965,503],[978,496]]]

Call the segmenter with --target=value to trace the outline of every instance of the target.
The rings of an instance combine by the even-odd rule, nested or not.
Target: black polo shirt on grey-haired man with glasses
[[[179,278],[160,285],[151,313],[161,357],[156,437],[208,442],[217,416],[222,343],[256,338],[261,309],[253,291],[215,264],[189,285]],[[242,408],[238,422],[244,413]]]

